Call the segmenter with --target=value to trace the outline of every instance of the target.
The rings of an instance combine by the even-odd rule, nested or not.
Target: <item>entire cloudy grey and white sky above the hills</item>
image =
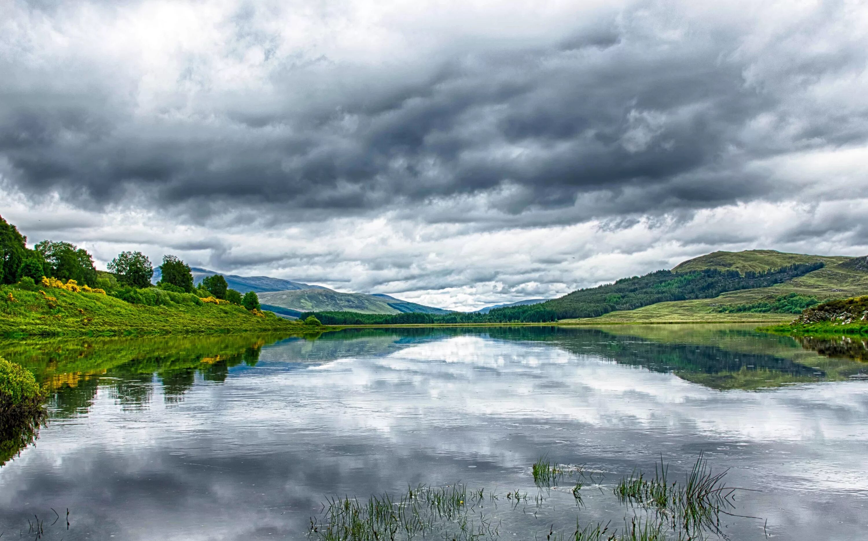
[[[471,310],[868,254],[868,4],[0,0],[0,214]]]

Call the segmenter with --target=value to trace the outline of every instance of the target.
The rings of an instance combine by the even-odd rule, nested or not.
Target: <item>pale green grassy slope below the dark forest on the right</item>
[[[710,254],[711,255],[711,254]],[[784,254],[791,255],[791,254]],[[799,255],[799,254],[792,254]],[[805,256],[819,257],[819,256]],[[698,258],[700,259],[700,258]],[[826,258],[847,260],[847,258]],[[691,260],[694,261],[694,260]],[[687,261],[689,262],[689,261]],[[679,270],[679,267],[675,267]],[[792,313],[721,312],[723,307],[752,305],[761,302],[775,303],[787,294],[814,297],[821,301],[843,299],[868,294],[868,273],[845,265],[830,265],[812,273],[776,284],[772,287],[741,289],[720,294],[713,299],[674,300],[658,302],[635,310],[610,312],[596,318],[561,320],[562,323],[609,324],[609,323],[781,323],[792,321]]]

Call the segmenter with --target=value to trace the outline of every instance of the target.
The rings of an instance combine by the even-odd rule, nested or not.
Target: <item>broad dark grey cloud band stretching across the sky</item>
[[[109,61],[89,70],[99,58],[74,54],[54,70],[24,49],[4,56],[3,176],[32,197],[57,191],[101,208],[135,195],[196,221],[226,208],[315,220],[490,195],[483,208],[570,208],[569,222],[779,198],[786,187],[746,163],[868,134],[864,116],[834,122],[816,102],[793,99],[786,82],[808,87],[852,69],[862,52],[796,62],[778,50],[785,66],[757,75],[769,62],[758,67],[765,50],[744,52],[744,28],[667,20],[663,4],[576,23],[548,43],[442,47],[391,68],[280,56],[254,11],[233,13],[231,51],[215,55],[263,47],[266,79],[227,91],[209,82],[214,63],[184,59],[174,95],[157,96],[153,109],[135,94],[135,69],[109,76]],[[761,81],[749,84],[747,73]],[[751,140],[762,115],[799,125]],[[498,196],[503,188],[509,195]]]

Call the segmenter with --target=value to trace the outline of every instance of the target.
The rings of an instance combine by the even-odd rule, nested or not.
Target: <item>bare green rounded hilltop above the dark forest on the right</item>
[[[836,265],[847,261],[848,257],[840,256],[825,256],[825,255],[808,255],[808,254],[786,254],[777,250],[745,250],[743,252],[712,252],[711,254],[700,255],[692,260],[684,261],[676,265],[672,272],[674,273],[689,273],[691,271],[700,271],[707,268],[716,268],[718,270],[735,270],[740,274],[747,272],[762,273],[777,268],[788,267],[790,265],[799,265],[803,263],[814,263],[822,261],[826,265]]]

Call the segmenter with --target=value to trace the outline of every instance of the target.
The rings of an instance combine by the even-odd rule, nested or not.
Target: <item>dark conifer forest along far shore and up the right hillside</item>
[[[822,262],[790,265],[765,272],[740,274],[734,270],[705,269],[690,273],[660,270],[615,283],[579,289],[559,299],[521,307],[495,308],[489,313],[310,312],[325,325],[401,325],[431,323],[544,323],[572,318],[593,318],[617,310],[635,310],[669,300],[712,299],[727,291],[769,287],[822,268]]]

